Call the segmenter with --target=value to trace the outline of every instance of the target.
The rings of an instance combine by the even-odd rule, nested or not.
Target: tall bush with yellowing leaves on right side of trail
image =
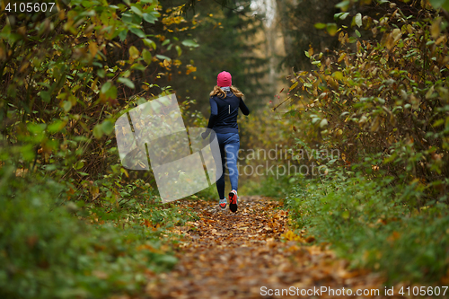
[[[317,68],[292,76],[297,106],[290,114],[301,128],[296,136],[308,145],[339,149],[340,165],[377,155],[375,168],[388,171],[396,184],[412,183],[424,191],[425,196],[409,204],[445,201],[447,22],[426,1],[379,2],[361,4],[364,14],[354,9],[335,14],[341,26],[328,24],[327,30],[338,34],[339,50],[305,53]],[[344,1],[339,7],[348,5]]]

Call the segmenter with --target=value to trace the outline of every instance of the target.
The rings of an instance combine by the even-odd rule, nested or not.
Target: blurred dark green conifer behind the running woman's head
[[[261,78],[268,74],[269,66],[267,58],[255,53],[263,47],[263,40],[257,40],[263,32],[260,16],[251,11],[251,1],[201,1],[186,11],[185,18],[198,22],[194,31],[185,34],[200,46],[191,50],[189,61],[184,62],[195,66],[193,80],[183,72],[172,75],[171,85],[180,97],[197,100],[195,108],[208,115],[208,94],[216,85],[216,75],[225,70],[233,75],[233,84],[245,93],[252,108],[263,106],[262,99],[267,99],[269,92]]]

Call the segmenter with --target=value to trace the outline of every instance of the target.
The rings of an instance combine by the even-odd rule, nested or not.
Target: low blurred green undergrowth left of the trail
[[[112,214],[107,220],[102,208],[55,205],[66,189],[54,180],[17,178],[7,166],[0,177],[2,298],[134,294],[145,284],[145,271],[176,262],[161,233],[170,235],[167,228],[195,216],[180,205],[133,199],[105,213]],[[163,239],[176,242],[176,236]]]

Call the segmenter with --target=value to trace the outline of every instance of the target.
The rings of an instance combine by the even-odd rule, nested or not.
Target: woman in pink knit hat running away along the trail
[[[225,169],[227,169],[232,189],[229,192],[229,209],[234,213],[237,211],[238,205],[239,171],[237,169],[237,155],[240,148],[240,136],[237,116],[239,108],[244,115],[250,114],[250,110],[246,107],[242,97],[243,93],[233,86],[231,74],[225,71],[218,74],[216,86],[210,92],[210,118],[207,131],[202,134],[203,138],[206,138],[210,129],[216,132],[223,168],[221,177],[216,181],[216,189],[220,197],[219,206],[225,209],[227,204],[225,198]]]

